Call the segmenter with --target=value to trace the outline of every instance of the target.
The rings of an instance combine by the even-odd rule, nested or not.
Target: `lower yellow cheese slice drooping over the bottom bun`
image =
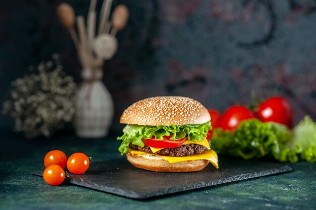
[[[131,154],[135,155],[148,155],[148,156],[156,156],[167,160],[169,163],[178,163],[182,161],[194,161],[194,160],[207,160],[209,161],[215,168],[219,168],[219,161],[217,157],[217,153],[214,150],[206,150],[201,154],[184,156],[184,157],[171,157],[171,156],[162,156],[162,155],[154,155],[151,153],[146,153],[138,150],[129,151]]]

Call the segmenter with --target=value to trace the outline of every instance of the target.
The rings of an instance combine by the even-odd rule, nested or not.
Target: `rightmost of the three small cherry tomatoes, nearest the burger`
[[[89,158],[83,153],[72,154],[67,161],[67,168],[73,174],[83,174],[90,165]]]

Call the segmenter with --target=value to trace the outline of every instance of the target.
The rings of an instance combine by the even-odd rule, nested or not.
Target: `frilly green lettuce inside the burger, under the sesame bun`
[[[123,140],[119,151],[123,155],[128,152],[129,144],[144,147],[142,138],[149,139],[155,136],[157,140],[163,140],[164,136],[169,136],[172,134],[171,140],[184,138],[187,136],[188,140],[195,140],[200,142],[206,137],[208,130],[211,128],[210,122],[205,122],[202,124],[194,125],[159,125],[159,126],[149,126],[149,125],[126,125],[123,129],[124,134],[119,136],[118,140]]]

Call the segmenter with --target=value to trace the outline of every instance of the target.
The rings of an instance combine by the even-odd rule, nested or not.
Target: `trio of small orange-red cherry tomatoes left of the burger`
[[[65,180],[64,168],[73,174],[82,174],[88,170],[90,159],[83,153],[74,153],[68,160],[64,152],[52,150],[44,157],[43,178],[50,185],[59,185]]]

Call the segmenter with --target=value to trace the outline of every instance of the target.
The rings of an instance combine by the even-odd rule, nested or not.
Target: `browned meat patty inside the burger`
[[[208,140],[208,144],[210,145],[210,140]],[[143,151],[143,152],[151,153],[155,155],[172,156],[172,157],[183,157],[183,156],[189,156],[189,155],[194,155],[194,154],[200,154],[204,152],[205,150],[207,150],[206,147],[201,146],[201,145],[195,145],[195,144],[181,145],[180,147],[176,147],[176,148],[165,148],[155,153],[153,153],[148,146],[139,147],[131,143],[129,147],[133,150],[139,150],[139,151]]]

